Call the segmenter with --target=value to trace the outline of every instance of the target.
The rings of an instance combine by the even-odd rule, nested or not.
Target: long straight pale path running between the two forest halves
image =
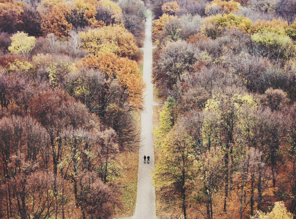
[[[151,172],[154,168],[154,151],[152,141],[152,114],[153,114],[153,85],[152,75],[152,16],[149,15],[145,24],[143,80],[146,83],[144,92],[144,110],[142,111],[141,144],[139,150],[138,191],[134,217],[137,219],[156,218],[155,189],[152,186]],[[150,156],[150,163],[144,163],[144,155]]]

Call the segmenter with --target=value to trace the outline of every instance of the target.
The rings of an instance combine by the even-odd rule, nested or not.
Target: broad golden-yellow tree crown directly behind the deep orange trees
[[[86,51],[92,54],[113,52],[119,57],[134,58],[138,54],[134,36],[123,25],[110,25],[79,32]]]

